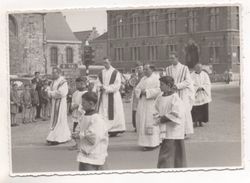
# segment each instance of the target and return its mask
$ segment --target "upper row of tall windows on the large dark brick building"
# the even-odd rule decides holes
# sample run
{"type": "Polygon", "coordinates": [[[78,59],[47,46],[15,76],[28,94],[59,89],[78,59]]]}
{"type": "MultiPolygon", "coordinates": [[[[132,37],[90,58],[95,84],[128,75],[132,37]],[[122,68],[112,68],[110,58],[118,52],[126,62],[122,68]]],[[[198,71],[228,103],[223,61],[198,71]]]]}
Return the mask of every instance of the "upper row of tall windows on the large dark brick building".
{"type": "MultiPolygon", "coordinates": [[[[210,8],[210,14],[209,14],[209,29],[211,31],[219,30],[219,24],[220,24],[220,8],[210,8]]],[[[236,13],[236,25],[239,29],[239,12],[237,8],[236,13]]],[[[197,22],[198,22],[198,15],[197,10],[190,10],[187,11],[187,17],[185,17],[186,21],[186,32],[188,33],[194,33],[197,32],[197,22]]],[[[131,20],[128,21],[124,19],[122,16],[117,16],[115,19],[115,22],[113,22],[111,25],[109,25],[111,28],[113,27],[113,30],[115,31],[115,37],[116,38],[122,38],[124,37],[125,27],[130,27],[130,35],[132,37],[138,37],[140,36],[140,25],[146,24],[147,26],[147,32],[149,36],[155,36],[157,35],[157,27],[158,24],[165,24],[165,33],[167,35],[173,35],[176,34],[176,23],[180,20],[180,18],[176,17],[176,13],[169,12],[167,14],[161,15],[161,14],[150,14],[146,18],[142,19],[141,16],[138,14],[132,15],[131,20]],[[160,16],[164,16],[165,18],[159,19],[160,16]]]]}

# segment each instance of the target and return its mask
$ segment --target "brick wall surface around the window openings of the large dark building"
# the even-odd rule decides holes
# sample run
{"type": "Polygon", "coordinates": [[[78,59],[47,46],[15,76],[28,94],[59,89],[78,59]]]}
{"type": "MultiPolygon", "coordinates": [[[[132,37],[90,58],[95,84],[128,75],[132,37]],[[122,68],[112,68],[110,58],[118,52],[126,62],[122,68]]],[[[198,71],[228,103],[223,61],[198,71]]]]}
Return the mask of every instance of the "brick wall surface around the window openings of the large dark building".
{"type": "Polygon", "coordinates": [[[157,67],[165,67],[168,62],[170,45],[175,45],[180,61],[187,64],[187,47],[195,45],[198,50],[199,61],[203,64],[212,64],[216,72],[222,73],[234,64],[239,63],[239,27],[237,7],[211,8],[177,8],[153,10],[114,10],[108,11],[108,56],[118,68],[130,70],[135,65],[131,58],[131,48],[139,47],[139,60],[152,63],[157,67]],[[216,10],[217,9],[217,10],[216,10]],[[195,14],[195,31],[188,27],[189,12],[195,14]],[[210,28],[211,12],[216,14],[216,29],[210,28]],[[175,13],[175,33],[168,32],[166,16],[175,13]],[[133,15],[139,16],[139,35],[131,33],[133,15]],[[156,15],[156,34],[149,33],[149,15],[156,15]],[[121,21],[123,36],[117,37],[117,20],[121,21]],[[149,59],[148,46],[157,47],[157,58],[149,59]],[[123,59],[117,60],[116,48],[124,50],[123,59]],[[216,53],[216,58],[213,52],[216,53]]]}

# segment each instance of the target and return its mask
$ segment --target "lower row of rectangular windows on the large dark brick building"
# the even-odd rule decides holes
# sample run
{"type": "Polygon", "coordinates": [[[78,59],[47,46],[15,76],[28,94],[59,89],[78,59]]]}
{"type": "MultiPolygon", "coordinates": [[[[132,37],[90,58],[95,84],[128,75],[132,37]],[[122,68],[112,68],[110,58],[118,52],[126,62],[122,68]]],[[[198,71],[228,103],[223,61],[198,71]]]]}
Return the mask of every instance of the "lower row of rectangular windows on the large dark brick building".
{"type": "MultiPolygon", "coordinates": [[[[129,55],[130,58],[129,60],[131,61],[137,61],[141,60],[141,48],[142,47],[131,47],[129,48],[129,55]]],[[[124,61],[124,48],[115,48],[115,55],[114,59],[116,61],[124,61]]],[[[164,57],[165,59],[169,58],[169,54],[171,52],[176,52],[177,51],[177,45],[167,45],[165,47],[165,53],[164,57]]],[[[210,62],[218,62],[220,58],[220,53],[221,53],[221,47],[215,46],[215,47],[209,47],[209,59],[210,62]]],[[[237,48],[237,57],[239,60],[239,47],[237,48]]],[[[151,61],[156,61],[159,60],[159,46],[146,46],[146,54],[147,54],[147,59],[146,60],[151,60],[151,61]]]]}

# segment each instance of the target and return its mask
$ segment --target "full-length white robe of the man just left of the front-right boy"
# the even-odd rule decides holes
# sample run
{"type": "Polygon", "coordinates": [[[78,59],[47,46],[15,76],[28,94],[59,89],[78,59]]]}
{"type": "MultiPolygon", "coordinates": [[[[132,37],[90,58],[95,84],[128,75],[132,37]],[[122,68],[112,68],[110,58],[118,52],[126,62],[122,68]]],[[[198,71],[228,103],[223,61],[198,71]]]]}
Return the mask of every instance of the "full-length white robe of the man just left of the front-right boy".
{"type": "Polygon", "coordinates": [[[144,76],[135,88],[135,95],[139,99],[136,112],[136,128],[138,133],[138,145],[142,147],[155,147],[160,143],[160,129],[155,125],[153,114],[155,113],[154,102],[161,93],[159,76],[152,74],[144,76]],[[141,91],[146,91],[146,96],[141,96],[141,91]],[[152,134],[146,132],[152,129],[152,134]]]}

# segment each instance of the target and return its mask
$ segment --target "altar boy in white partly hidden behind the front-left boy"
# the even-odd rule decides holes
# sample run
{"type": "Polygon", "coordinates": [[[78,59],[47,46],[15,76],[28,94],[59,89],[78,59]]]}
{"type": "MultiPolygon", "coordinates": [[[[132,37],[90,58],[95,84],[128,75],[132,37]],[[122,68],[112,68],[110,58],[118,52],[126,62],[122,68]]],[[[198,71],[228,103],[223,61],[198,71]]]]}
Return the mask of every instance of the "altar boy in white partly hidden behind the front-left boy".
{"type": "MultiPolygon", "coordinates": [[[[82,103],[82,95],[87,92],[86,90],[86,79],[85,78],[76,78],[76,91],[72,95],[72,103],[71,103],[71,110],[72,110],[72,121],[73,121],[73,130],[72,134],[76,132],[76,127],[79,123],[79,118],[81,117],[82,113],[79,110],[79,107],[82,103]]],[[[77,141],[76,144],[70,148],[70,150],[77,149],[77,141]]]]}

